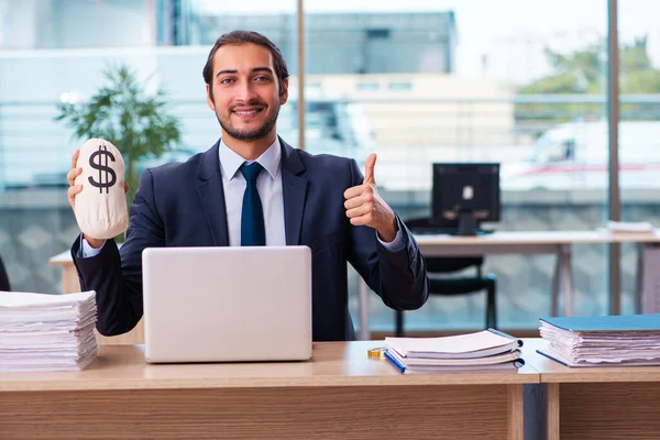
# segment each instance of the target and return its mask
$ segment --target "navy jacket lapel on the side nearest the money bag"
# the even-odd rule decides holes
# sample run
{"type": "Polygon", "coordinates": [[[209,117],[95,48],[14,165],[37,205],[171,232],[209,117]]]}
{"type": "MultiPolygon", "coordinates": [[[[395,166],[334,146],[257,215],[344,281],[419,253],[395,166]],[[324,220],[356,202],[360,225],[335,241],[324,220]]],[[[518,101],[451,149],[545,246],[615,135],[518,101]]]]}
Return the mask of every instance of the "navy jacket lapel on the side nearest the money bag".
{"type": "Polygon", "coordinates": [[[219,146],[220,141],[201,156],[201,163],[197,170],[197,177],[199,178],[197,193],[213,235],[213,244],[228,246],[229,232],[227,229],[224,189],[222,187],[222,175],[220,174],[219,146]]]}

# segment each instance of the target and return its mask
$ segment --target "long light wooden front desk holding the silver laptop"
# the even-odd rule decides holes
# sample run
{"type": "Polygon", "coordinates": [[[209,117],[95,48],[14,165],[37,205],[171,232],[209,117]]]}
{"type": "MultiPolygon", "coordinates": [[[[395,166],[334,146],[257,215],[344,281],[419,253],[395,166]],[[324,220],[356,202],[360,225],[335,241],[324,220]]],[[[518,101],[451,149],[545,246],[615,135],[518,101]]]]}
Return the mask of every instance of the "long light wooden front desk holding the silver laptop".
{"type": "Polygon", "coordinates": [[[100,346],[80,373],[3,373],[0,438],[522,439],[518,372],[402,375],[366,350],[315,343],[299,363],[148,365],[100,346]]]}

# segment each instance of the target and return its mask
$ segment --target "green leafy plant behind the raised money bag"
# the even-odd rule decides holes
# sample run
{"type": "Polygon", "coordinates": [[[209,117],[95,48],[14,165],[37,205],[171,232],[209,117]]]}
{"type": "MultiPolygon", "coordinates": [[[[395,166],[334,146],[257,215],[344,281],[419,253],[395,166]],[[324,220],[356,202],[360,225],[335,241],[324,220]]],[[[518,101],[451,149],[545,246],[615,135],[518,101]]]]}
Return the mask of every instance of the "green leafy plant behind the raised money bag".
{"type": "Polygon", "coordinates": [[[127,164],[130,206],[140,183],[138,162],[176,148],[182,136],[180,123],[165,111],[165,91],[158,89],[155,95],[147,95],[145,84],[136,79],[130,67],[109,66],[103,76],[110,82],[108,86],[101,87],[87,102],[59,102],[55,120],[65,121],[77,139],[101,138],[119,148],[127,164]]]}

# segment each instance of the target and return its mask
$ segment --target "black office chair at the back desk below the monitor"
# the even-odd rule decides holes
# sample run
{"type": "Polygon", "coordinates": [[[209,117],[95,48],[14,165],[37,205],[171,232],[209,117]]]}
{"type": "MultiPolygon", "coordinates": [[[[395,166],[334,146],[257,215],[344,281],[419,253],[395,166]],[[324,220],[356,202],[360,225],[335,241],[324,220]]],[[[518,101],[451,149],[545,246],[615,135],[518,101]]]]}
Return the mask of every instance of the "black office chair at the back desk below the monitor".
{"type": "MultiPolygon", "coordinates": [[[[428,218],[410,219],[405,221],[406,226],[415,232],[416,229],[429,230],[432,228],[428,218]]],[[[486,328],[497,328],[497,279],[495,275],[482,275],[483,256],[475,257],[438,257],[425,256],[427,272],[430,280],[430,295],[468,295],[486,290],[486,328]],[[439,274],[449,274],[475,267],[475,276],[461,276],[447,278],[439,274]]],[[[396,336],[404,336],[404,312],[396,311],[396,336]]]]}

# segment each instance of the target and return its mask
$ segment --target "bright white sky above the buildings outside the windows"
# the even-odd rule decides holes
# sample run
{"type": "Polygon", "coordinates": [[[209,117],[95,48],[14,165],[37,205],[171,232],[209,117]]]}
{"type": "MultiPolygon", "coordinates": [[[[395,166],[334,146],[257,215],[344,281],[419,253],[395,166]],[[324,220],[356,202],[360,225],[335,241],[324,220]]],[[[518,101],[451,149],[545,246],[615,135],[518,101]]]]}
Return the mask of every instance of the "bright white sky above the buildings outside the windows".
{"type": "MultiPolygon", "coordinates": [[[[226,2],[196,0],[208,12],[295,12],[296,0],[226,2]]],[[[619,41],[631,42],[647,33],[649,52],[660,66],[660,1],[619,0],[619,41]]],[[[453,10],[459,33],[457,73],[479,75],[482,55],[493,42],[534,34],[549,37],[578,31],[605,36],[607,0],[305,0],[306,12],[413,12],[453,10]]],[[[575,45],[580,44],[580,38],[575,45]]]]}

